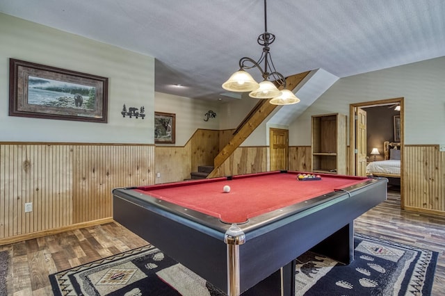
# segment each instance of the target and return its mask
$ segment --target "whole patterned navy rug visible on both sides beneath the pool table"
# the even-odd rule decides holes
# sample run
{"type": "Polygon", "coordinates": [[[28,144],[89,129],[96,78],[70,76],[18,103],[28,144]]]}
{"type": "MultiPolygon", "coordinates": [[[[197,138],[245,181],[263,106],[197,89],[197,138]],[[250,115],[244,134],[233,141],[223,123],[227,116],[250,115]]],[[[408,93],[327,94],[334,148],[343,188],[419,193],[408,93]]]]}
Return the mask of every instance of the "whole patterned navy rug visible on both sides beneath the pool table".
{"type": "MultiPolygon", "coordinates": [[[[430,295],[437,252],[355,234],[355,260],[298,257],[296,295],[430,295]]],[[[153,246],[49,276],[54,295],[223,295],[153,246]]]]}

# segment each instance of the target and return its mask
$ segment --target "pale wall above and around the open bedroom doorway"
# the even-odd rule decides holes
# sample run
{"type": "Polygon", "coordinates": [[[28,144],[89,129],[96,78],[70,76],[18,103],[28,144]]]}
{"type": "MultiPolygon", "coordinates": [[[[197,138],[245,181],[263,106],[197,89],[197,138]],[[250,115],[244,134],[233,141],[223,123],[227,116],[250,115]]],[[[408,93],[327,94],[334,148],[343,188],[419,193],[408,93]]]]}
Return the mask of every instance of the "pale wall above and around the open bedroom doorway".
{"type": "Polygon", "coordinates": [[[349,118],[350,104],[396,97],[405,98],[405,144],[445,144],[442,57],[339,79],[291,124],[289,145],[311,145],[312,115],[343,113],[349,118]]]}

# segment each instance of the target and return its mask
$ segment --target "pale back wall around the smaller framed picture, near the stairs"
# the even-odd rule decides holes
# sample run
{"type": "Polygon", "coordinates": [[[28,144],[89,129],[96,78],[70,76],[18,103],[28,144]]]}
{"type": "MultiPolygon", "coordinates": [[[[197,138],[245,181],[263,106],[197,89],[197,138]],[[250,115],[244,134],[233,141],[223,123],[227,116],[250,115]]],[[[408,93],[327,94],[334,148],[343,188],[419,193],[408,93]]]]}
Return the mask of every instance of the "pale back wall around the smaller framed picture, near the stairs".
{"type": "Polygon", "coordinates": [[[178,97],[162,92],[155,92],[154,110],[176,114],[175,146],[186,145],[197,129],[220,129],[220,119],[223,117],[219,102],[178,97]],[[216,117],[205,122],[204,115],[209,110],[215,112],[216,117]]]}

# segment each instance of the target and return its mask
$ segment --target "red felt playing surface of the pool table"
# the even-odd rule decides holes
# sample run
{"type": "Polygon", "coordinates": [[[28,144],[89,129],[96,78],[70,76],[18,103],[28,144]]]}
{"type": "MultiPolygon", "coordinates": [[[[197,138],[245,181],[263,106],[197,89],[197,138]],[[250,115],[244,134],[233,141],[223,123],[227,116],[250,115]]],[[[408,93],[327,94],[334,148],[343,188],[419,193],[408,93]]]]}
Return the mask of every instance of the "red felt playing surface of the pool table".
{"type": "Polygon", "coordinates": [[[172,204],[243,223],[249,218],[305,202],[366,181],[365,177],[321,174],[321,180],[298,181],[298,172],[266,172],[142,186],[135,190],[172,204]],[[225,185],[230,192],[223,192],[225,185]]]}

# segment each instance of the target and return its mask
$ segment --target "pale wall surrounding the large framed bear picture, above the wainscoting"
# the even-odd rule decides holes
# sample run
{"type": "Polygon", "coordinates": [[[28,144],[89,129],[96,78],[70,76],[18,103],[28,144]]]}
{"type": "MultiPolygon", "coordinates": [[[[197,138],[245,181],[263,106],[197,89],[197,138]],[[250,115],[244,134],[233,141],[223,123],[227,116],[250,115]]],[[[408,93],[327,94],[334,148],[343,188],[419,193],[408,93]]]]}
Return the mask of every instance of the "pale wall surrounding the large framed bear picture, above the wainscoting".
{"type": "Polygon", "coordinates": [[[154,58],[1,13],[0,40],[0,141],[154,142],[154,58]],[[108,123],[8,116],[9,58],[108,77],[108,123]],[[122,117],[123,104],[145,119],[122,117]]]}

